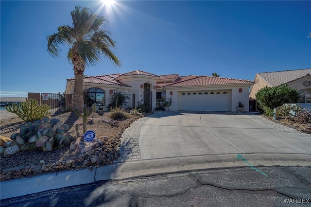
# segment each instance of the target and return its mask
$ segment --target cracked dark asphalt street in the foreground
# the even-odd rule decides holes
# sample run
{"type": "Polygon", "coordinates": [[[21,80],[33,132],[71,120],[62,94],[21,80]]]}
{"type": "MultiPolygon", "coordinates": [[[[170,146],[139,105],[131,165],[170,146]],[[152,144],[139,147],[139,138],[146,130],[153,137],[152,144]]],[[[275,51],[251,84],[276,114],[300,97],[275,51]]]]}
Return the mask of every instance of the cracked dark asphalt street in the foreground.
{"type": "Polygon", "coordinates": [[[1,201],[1,207],[308,207],[310,167],[225,168],[99,181],[1,201]]]}

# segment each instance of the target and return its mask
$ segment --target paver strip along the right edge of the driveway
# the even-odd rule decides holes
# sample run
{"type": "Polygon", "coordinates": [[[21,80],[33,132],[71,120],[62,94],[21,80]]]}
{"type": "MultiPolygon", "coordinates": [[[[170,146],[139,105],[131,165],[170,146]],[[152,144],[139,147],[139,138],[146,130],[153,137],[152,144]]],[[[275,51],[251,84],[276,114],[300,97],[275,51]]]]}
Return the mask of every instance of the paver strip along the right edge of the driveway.
{"type": "Polygon", "coordinates": [[[299,137],[299,138],[304,138],[304,139],[307,139],[307,140],[311,140],[311,134],[303,133],[303,132],[297,131],[295,129],[292,129],[290,127],[283,126],[281,124],[278,124],[278,123],[275,123],[273,121],[267,120],[267,119],[265,119],[265,118],[263,118],[261,116],[249,116],[249,117],[251,119],[255,120],[255,121],[258,121],[259,123],[261,123],[263,125],[269,126],[269,127],[274,128],[276,130],[285,132],[287,134],[290,134],[290,135],[293,135],[293,136],[296,136],[296,137],[299,137]]]}

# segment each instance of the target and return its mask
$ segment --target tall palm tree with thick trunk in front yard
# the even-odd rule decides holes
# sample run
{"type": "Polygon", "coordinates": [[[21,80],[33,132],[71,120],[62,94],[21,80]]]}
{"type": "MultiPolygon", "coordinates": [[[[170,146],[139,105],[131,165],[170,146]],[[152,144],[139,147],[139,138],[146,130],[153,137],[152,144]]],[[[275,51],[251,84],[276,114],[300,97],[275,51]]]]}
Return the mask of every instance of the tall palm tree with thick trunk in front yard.
{"type": "Polygon", "coordinates": [[[111,51],[116,46],[108,31],[102,27],[106,19],[92,13],[88,8],[75,6],[71,12],[72,26],[58,27],[58,32],[49,35],[48,52],[53,57],[59,57],[60,44],[66,43],[71,48],[68,52],[68,61],[74,70],[73,107],[82,111],[83,101],[83,73],[86,66],[94,66],[103,55],[113,64],[121,66],[119,58],[111,51]]]}

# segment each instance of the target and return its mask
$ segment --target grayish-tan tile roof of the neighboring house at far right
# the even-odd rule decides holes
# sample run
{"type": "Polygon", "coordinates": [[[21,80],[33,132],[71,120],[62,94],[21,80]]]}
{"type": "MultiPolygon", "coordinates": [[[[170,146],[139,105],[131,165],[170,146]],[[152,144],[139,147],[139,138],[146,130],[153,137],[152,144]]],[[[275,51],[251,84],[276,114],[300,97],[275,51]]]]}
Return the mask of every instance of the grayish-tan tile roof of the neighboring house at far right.
{"type": "Polygon", "coordinates": [[[294,69],[276,72],[260,72],[257,73],[270,86],[279,86],[281,84],[289,83],[295,79],[311,74],[311,69],[294,69]]]}

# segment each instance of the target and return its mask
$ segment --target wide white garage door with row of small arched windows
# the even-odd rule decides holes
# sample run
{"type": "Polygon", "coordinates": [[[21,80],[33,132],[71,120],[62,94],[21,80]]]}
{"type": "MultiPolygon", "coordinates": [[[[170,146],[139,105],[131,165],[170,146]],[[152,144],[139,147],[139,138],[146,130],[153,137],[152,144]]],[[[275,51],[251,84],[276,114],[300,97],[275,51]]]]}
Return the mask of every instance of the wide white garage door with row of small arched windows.
{"type": "Polygon", "coordinates": [[[228,90],[180,92],[180,110],[229,111],[228,90]]]}

